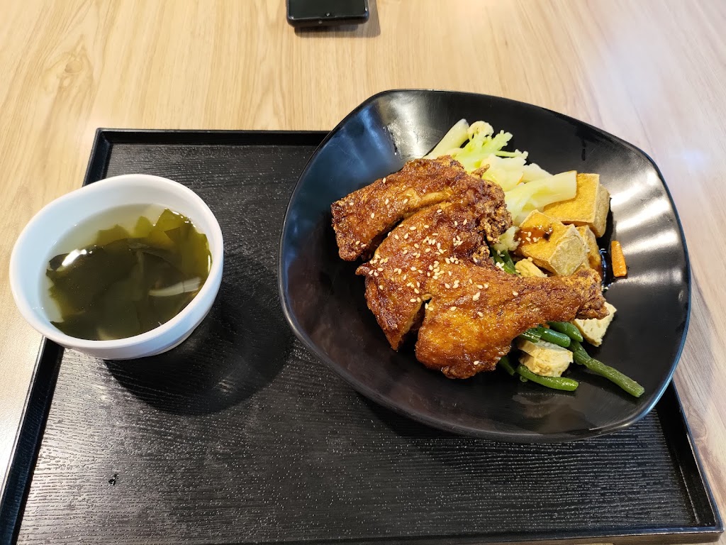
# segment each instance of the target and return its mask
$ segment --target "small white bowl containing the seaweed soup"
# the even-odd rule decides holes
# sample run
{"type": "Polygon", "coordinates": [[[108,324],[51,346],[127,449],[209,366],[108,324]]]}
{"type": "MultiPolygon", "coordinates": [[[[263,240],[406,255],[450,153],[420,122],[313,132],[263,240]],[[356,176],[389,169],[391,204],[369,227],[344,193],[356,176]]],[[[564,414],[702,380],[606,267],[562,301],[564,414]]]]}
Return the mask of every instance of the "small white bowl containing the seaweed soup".
{"type": "Polygon", "coordinates": [[[107,360],[128,360],[166,352],[187,339],[209,312],[219,291],[224,250],[214,214],[184,185],[147,174],[126,174],[99,180],[63,195],[30,219],[10,257],[10,287],[20,313],[44,336],[63,347],[107,360]],[[197,296],[174,318],[144,334],[113,341],[68,336],[50,323],[43,307],[45,271],[58,241],[78,224],[118,206],[159,205],[184,214],[207,235],[212,255],[209,276],[197,296]]]}

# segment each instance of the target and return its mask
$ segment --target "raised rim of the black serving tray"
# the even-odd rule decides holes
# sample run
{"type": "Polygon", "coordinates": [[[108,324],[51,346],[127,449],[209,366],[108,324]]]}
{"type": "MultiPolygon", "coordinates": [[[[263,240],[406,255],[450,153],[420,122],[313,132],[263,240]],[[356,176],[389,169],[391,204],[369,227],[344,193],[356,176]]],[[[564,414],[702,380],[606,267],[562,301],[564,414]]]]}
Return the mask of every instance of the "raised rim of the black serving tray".
{"type": "MultiPolygon", "coordinates": [[[[325,142],[325,131],[264,131],[264,130],[204,130],[204,129],[97,129],[94,142],[91,146],[89,163],[83,176],[83,184],[102,179],[107,169],[113,145],[322,145],[325,142]],[[280,140],[289,140],[280,142],[280,140]]],[[[303,167],[303,169],[306,167],[303,167]]],[[[667,187],[666,187],[667,190],[667,187]]],[[[60,371],[63,349],[49,339],[41,339],[38,347],[36,363],[31,375],[30,385],[25,397],[20,425],[17,427],[11,449],[10,461],[4,468],[4,480],[0,493],[0,542],[12,542],[17,538],[20,524],[23,520],[25,499],[28,496],[30,485],[33,482],[33,470],[36,465],[38,453],[44,437],[46,422],[56,387],[56,379],[60,371]],[[41,382],[40,379],[44,379],[41,382]],[[30,429],[32,428],[32,429],[30,429]],[[28,443],[28,444],[26,444],[28,443]],[[20,490],[10,490],[15,484],[20,490]]],[[[568,536],[550,533],[539,534],[505,534],[502,536],[459,536],[461,543],[508,543],[508,544],[589,544],[593,539],[606,538],[613,544],[639,543],[653,544],[685,544],[702,543],[704,541],[717,541],[723,533],[724,525],[718,506],[715,502],[711,486],[703,468],[701,456],[693,439],[688,419],[683,411],[680,396],[673,381],[666,385],[664,394],[656,403],[656,413],[661,418],[661,411],[671,411],[669,416],[676,416],[669,420],[669,427],[665,425],[664,439],[674,456],[680,472],[680,481],[686,487],[686,496],[690,500],[690,510],[700,515],[698,506],[693,503],[693,494],[686,483],[683,469],[690,465],[695,470],[693,478],[696,485],[705,493],[709,520],[703,525],[677,528],[640,528],[628,532],[597,533],[597,532],[569,532],[568,536]],[[664,402],[661,404],[661,401],[664,402]],[[674,424],[675,422],[675,424],[674,424]],[[666,432],[666,429],[676,427],[666,432]],[[685,456],[685,458],[684,458],[685,456]],[[711,524],[713,522],[713,524],[711,524]],[[481,541],[486,539],[489,541],[481,541]]],[[[703,506],[701,506],[703,509],[703,506]]],[[[421,536],[407,538],[407,543],[440,542],[444,536],[421,536]]],[[[399,538],[368,539],[370,543],[392,543],[399,538]]],[[[346,540],[347,541],[347,540],[346,540]]],[[[346,541],[335,541],[345,543],[346,541]]]]}

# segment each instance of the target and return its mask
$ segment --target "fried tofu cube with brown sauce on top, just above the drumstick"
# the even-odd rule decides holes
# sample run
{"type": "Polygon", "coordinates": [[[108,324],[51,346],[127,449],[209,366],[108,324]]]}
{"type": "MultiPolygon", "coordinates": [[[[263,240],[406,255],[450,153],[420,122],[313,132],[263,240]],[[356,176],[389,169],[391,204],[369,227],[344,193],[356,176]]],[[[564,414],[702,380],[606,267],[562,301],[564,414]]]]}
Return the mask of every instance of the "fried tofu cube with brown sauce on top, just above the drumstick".
{"type": "Polygon", "coordinates": [[[519,231],[518,254],[555,275],[571,275],[587,259],[587,245],[574,225],[534,210],[519,231]]]}

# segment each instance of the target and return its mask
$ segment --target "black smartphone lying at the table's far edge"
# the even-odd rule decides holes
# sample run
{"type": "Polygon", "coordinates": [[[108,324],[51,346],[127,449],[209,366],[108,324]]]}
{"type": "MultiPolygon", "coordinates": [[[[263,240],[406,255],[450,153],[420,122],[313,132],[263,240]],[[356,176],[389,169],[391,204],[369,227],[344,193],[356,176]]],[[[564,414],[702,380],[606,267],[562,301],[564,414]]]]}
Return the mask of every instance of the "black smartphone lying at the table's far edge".
{"type": "Polygon", "coordinates": [[[287,23],[295,27],[359,25],[368,20],[368,0],[287,0],[287,23]]]}

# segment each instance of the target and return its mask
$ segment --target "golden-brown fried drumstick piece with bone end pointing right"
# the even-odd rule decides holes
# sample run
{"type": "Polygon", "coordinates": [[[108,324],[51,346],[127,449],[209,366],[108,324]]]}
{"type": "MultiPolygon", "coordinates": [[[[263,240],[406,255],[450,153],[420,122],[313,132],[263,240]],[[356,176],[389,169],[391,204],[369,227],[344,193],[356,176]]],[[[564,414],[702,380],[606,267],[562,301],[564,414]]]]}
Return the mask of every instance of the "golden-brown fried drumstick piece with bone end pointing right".
{"type": "Polygon", "coordinates": [[[416,358],[452,379],[492,371],[513,339],[529,328],[608,315],[600,277],[592,269],[550,278],[519,278],[489,263],[452,263],[441,270],[427,286],[431,302],[416,358]]]}

